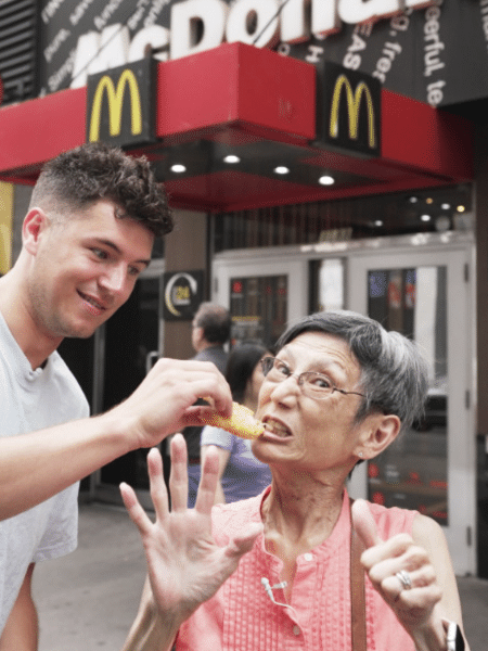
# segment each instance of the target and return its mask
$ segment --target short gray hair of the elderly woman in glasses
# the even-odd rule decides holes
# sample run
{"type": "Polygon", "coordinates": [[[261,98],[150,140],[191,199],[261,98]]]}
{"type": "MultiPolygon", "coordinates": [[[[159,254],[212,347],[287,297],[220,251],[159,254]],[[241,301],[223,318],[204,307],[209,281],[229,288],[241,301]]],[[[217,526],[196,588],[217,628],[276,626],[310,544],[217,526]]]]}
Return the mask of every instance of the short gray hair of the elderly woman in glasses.
{"type": "Polygon", "coordinates": [[[361,368],[365,394],[357,420],[377,409],[395,414],[407,430],[424,413],[428,390],[428,367],[419,347],[399,332],[386,331],[363,315],[334,310],[304,317],[279,339],[281,349],[305,332],[323,332],[346,341],[361,368]]]}

